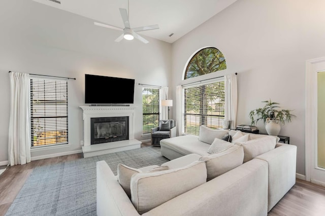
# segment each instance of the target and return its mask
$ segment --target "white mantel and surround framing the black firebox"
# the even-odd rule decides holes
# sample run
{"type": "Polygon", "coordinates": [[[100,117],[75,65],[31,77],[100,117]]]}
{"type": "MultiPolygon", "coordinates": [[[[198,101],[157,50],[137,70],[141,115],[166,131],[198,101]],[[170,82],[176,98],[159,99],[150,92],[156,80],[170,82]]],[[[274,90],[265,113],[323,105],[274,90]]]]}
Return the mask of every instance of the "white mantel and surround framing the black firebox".
{"type": "Polygon", "coordinates": [[[90,146],[90,118],[128,116],[128,139],[134,139],[135,106],[80,106],[83,110],[84,146],[90,146]]]}

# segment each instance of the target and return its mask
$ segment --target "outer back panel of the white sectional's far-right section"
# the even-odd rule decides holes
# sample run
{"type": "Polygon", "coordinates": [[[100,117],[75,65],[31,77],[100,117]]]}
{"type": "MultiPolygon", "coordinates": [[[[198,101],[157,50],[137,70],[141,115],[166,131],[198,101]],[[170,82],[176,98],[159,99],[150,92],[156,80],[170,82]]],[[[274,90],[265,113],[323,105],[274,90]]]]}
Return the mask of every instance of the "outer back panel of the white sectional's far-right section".
{"type": "Polygon", "coordinates": [[[297,146],[288,144],[255,157],[269,164],[268,211],[296,184],[296,157],[297,146]]]}

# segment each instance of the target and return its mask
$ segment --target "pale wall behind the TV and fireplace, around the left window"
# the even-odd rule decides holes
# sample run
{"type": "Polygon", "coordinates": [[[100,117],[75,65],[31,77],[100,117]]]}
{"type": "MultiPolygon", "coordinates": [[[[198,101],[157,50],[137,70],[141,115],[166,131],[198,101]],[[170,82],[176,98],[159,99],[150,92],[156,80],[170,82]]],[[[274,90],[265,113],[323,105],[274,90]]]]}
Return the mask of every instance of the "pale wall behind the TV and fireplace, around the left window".
{"type": "MultiPolygon", "coordinates": [[[[119,17],[118,17],[119,18],[119,17]]],[[[142,137],[142,87],[168,85],[171,45],[148,38],[114,42],[121,32],[93,20],[33,1],[2,0],[0,7],[0,163],[8,160],[10,84],[8,71],[76,77],[69,80],[69,147],[32,152],[40,158],[81,150],[84,74],[136,79],[135,138],[142,137]]],[[[122,88],[122,87],[121,87],[122,88]]],[[[107,93],[114,94],[114,93],[107,93]]]]}

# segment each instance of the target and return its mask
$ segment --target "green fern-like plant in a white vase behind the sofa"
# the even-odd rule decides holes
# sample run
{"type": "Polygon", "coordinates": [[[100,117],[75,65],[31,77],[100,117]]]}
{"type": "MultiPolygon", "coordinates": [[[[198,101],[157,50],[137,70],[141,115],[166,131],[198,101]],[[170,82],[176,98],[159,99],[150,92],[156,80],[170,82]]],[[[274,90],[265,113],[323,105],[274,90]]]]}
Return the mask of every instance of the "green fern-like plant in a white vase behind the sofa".
{"type": "Polygon", "coordinates": [[[251,124],[254,125],[258,120],[262,120],[264,124],[266,124],[265,129],[268,135],[278,136],[281,130],[281,125],[284,125],[284,122],[291,122],[291,117],[295,116],[290,112],[293,110],[282,109],[278,110],[278,104],[276,102],[272,102],[271,99],[269,101],[262,101],[266,103],[263,108],[257,108],[251,110],[249,112],[249,118],[251,120],[251,124]],[[255,119],[254,117],[257,116],[255,119]]]}

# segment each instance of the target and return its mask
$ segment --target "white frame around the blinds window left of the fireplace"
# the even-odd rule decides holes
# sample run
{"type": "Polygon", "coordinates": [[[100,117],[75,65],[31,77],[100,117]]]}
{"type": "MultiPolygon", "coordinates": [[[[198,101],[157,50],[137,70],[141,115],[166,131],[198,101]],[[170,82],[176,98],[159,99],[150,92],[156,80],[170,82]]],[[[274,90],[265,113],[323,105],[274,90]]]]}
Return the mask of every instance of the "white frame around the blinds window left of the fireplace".
{"type": "MultiPolygon", "coordinates": [[[[30,75],[29,78],[29,84],[30,84],[30,92],[29,92],[29,122],[30,122],[30,150],[31,151],[38,151],[38,150],[42,150],[44,148],[59,148],[59,147],[68,147],[70,146],[69,144],[69,82],[68,82],[68,78],[59,78],[59,77],[51,77],[51,76],[40,76],[40,75],[30,75]],[[66,82],[66,85],[64,89],[66,89],[66,103],[64,104],[64,106],[66,106],[66,116],[64,116],[64,118],[66,118],[66,120],[64,122],[66,122],[63,126],[64,129],[66,129],[66,142],[63,143],[53,143],[53,144],[45,144],[45,145],[36,145],[36,146],[32,146],[32,136],[34,135],[34,132],[32,132],[32,80],[48,80],[48,81],[63,81],[66,82]]],[[[58,94],[58,93],[57,93],[58,94]]],[[[55,100],[53,100],[55,101],[55,100]]],[[[56,100],[58,101],[58,100],[56,100]]],[[[57,110],[57,109],[56,109],[57,110]]],[[[57,115],[58,116],[58,115],[57,115]]],[[[36,118],[36,117],[35,117],[36,118]]],[[[52,118],[56,118],[56,117],[52,117],[52,118]]],[[[54,136],[55,139],[57,139],[59,136],[54,136]]]]}

